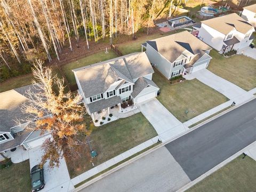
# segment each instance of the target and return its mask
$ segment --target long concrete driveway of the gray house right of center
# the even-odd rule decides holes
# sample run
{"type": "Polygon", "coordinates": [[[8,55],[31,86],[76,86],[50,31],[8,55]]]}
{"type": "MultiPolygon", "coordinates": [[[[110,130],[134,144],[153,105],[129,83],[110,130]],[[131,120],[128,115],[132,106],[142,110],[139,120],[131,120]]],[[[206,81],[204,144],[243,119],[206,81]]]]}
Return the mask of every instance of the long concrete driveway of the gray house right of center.
{"type": "Polygon", "coordinates": [[[252,94],[246,92],[241,87],[223,79],[207,69],[202,69],[191,74],[202,83],[212,87],[214,90],[225,95],[228,99],[234,100],[237,104],[252,98],[252,94]]]}

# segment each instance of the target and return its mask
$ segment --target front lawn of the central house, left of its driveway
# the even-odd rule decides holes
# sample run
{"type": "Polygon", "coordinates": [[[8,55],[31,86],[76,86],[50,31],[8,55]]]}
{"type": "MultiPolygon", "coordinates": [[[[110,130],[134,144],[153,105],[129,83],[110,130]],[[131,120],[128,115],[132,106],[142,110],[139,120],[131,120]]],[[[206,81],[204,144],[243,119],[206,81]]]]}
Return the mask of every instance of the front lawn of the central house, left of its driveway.
{"type": "MultiPolygon", "coordinates": [[[[91,118],[87,118],[87,124],[90,120],[91,118]]],[[[92,159],[89,156],[88,147],[81,146],[79,150],[81,156],[66,158],[71,178],[92,169],[92,163],[97,166],[157,136],[154,127],[141,113],[99,127],[90,123],[90,129],[92,130],[91,145],[93,150],[97,151],[98,156],[92,159]]],[[[86,142],[84,137],[81,140],[86,142]]]]}

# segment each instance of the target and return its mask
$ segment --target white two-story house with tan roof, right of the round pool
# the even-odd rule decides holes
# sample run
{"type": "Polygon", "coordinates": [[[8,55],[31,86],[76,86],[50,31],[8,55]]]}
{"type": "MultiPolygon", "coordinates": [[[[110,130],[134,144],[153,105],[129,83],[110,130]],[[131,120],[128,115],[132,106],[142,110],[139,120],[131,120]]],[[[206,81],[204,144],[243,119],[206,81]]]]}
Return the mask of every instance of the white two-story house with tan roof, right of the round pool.
{"type": "Polygon", "coordinates": [[[198,30],[199,39],[222,53],[249,46],[254,31],[253,26],[236,13],[201,21],[194,29],[198,30]]]}

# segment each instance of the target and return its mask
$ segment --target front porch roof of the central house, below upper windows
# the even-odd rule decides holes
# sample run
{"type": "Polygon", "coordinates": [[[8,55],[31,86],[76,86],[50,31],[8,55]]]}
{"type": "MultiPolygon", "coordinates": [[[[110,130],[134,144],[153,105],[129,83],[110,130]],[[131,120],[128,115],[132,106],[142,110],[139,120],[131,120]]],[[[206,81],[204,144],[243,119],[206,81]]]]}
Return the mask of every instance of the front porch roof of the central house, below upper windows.
{"type": "Polygon", "coordinates": [[[106,109],[108,107],[112,107],[117,105],[118,103],[121,103],[122,99],[119,96],[114,96],[108,99],[101,99],[99,101],[94,101],[89,104],[87,104],[87,107],[89,108],[90,113],[97,112],[102,109],[106,109]]]}

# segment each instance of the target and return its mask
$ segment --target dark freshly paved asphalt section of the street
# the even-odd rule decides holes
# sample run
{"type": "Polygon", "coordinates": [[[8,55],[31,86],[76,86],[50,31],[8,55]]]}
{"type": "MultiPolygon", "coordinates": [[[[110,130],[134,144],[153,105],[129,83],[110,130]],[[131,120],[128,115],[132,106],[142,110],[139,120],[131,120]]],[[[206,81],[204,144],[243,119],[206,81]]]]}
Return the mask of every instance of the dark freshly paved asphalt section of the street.
{"type": "Polygon", "coordinates": [[[194,180],[255,140],[256,99],[165,147],[190,180],[194,180]]]}

